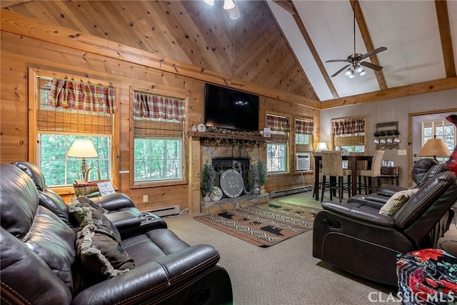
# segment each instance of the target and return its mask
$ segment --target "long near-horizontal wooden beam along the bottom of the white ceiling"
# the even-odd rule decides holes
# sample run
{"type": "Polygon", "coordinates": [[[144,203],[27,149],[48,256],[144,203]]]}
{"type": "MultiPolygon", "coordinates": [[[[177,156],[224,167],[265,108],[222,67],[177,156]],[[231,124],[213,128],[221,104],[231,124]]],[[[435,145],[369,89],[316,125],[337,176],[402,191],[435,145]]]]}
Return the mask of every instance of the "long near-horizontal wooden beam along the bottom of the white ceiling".
{"type": "Polygon", "coordinates": [[[397,99],[403,96],[411,96],[416,94],[425,94],[434,91],[456,89],[457,76],[447,79],[437,79],[435,81],[426,81],[419,84],[402,86],[381,91],[369,92],[366,94],[358,94],[354,96],[346,96],[341,99],[333,99],[331,101],[323,101],[321,109],[330,109],[340,106],[350,106],[355,104],[368,103],[371,101],[382,101],[384,99],[397,99]]]}

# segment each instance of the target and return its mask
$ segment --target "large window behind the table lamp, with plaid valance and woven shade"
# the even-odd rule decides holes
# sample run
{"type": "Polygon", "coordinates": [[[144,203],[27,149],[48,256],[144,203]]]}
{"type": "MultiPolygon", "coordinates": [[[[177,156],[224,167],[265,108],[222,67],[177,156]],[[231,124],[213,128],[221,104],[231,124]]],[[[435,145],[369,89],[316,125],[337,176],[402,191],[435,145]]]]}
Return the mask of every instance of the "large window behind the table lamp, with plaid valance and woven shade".
{"type": "MultiPolygon", "coordinates": [[[[99,169],[101,179],[111,179],[111,139],[116,106],[112,86],[33,74],[36,80],[36,164],[48,186],[69,186],[81,173],[81,158],[66,156],[76,139],[91,139],[98,157],[86,159],[88,168],[99,169]]],[[[93,81],[99,83],[99,81],[93,81]]],[[[98,180],[89,171],[89,181],[98,180]]]]}

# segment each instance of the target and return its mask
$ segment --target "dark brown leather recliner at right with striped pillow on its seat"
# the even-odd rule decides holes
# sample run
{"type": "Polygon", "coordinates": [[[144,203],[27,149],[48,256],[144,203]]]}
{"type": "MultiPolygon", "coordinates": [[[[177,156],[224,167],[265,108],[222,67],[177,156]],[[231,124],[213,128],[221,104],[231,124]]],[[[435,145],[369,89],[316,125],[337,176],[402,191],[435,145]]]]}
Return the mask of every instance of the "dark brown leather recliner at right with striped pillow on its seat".
{"type": "Polygon", "coordinates": [[[456,175],[433,176],[393,216],[358,202],[324,201],[313,226],[313,256],[383,284],[397,284],[396,255],[436,247],[457,200],[456,175]]]}

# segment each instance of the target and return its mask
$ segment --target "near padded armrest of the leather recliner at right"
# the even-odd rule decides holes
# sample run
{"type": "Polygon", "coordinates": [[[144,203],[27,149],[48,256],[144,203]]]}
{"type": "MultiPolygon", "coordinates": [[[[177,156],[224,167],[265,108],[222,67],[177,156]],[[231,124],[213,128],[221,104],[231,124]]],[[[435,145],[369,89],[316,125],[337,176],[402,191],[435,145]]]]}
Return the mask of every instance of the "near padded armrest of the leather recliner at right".
{"type": "Polygon", "coordinates": [[[353,219],[366,221],[371,224],[377,224],[381,226],[395,226],[393,217],[379,214],[379,210],[372,208],[371,206],[364,206],[356,202],[347,204],[340,204],[339,202],[323,201],[322,207],[328,211],[334,211],[339,214],[349,216],[353,219]]]}

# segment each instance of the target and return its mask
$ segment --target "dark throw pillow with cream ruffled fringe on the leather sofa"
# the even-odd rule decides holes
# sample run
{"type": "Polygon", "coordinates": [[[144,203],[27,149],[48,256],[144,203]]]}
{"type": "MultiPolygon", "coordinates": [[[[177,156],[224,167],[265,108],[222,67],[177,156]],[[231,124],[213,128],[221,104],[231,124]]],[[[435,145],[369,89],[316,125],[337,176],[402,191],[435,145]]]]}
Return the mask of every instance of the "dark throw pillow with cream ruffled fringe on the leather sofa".
{"type": "Polygon", "coordinates": [[[76,249],[83,266],[97,276],[117,276],[135,267],[134,259],[121,245],[116,226],[89,204],[71,204],[70,213],[80,220],[76,249]]]}

